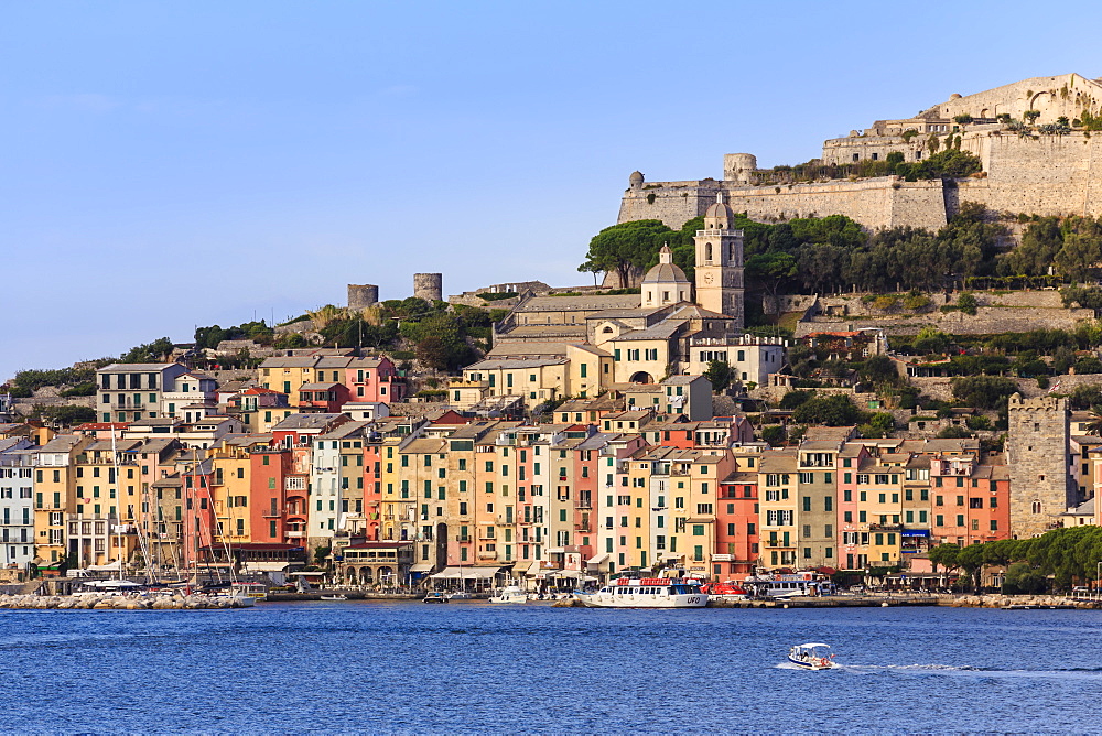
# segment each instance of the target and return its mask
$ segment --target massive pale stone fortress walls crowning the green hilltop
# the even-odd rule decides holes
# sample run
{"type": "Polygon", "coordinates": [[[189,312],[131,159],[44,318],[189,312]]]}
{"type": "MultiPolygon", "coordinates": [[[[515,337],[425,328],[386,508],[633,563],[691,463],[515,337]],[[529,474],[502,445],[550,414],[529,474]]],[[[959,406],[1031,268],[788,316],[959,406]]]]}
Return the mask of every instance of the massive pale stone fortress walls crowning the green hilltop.
{"type": "MultiPolygon", "coordinates": [[[[932,141],[943,148],[960,137],[960,148],[980,156],[983,172],[943,184],[940,180],[905,182],[897,176],[836,178],[802,184],[761,184],[766,172],[746,153],[724,158],[723,180],[645,183],[631,175],[617,221],[660,219],[680,228],[704,214],[719,192],[735,212],[750,219],[845,215],[869,229],[910,225],[938,229],[963,202],[976,202],[1002,213],[1029,215],[1102,215],[1102,132],[1066,134],[1008,130],[996,115],[1020,118],[1038,112],[1038,125],[1056,122],[1076,110],[1095,110],[1102,84],[1079,75],[1035,77],[968,97],[954,95],[916,118],[877,120],[872,128],[823,143],[822,163],[883,161],[899,152],[907,162],[921,161],[932,141]],[[958,115],[973,123],[959,125],[958,115]],[[906,137],[904,133],[915,131],[906,137]]],[[[1100,110],[1102,113],[1102,110],[1100,110]]]]}

